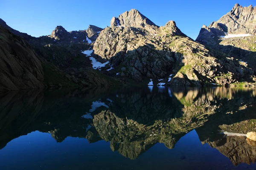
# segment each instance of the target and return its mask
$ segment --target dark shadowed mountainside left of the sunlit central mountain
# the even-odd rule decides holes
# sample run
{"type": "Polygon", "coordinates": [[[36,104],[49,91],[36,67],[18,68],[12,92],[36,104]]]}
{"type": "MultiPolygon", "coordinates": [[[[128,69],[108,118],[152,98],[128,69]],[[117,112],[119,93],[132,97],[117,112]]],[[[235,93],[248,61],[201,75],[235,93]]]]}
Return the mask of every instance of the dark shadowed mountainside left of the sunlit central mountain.
{"type": "MultiPolygon", "coordinates": [[[[36,71],[42,72],[40,81],[42,85],[39,87],[67,87],[67,86],[88,86],[88,85],[117,85],[118,82],[114,81],[111,77],[108,77],[99,71],[92,68],[91,60],[86,57],[81,51],[88,50],[93,46],[93,40],[96,40],[102,28],[96,26],[89,26],[87,30],[84,31],[66,31],[64,27],[57,26],[55,30],[52,31],[51,35],[32,37],[25,33],[20,33],[19,31],[9,27],[6,22],[0,20],[1,31],[6,34],[14,34],[15,37],[19,37],[19,40],[29,46],[29,50],[33,50],[36,59],[40,64],[41,68],[33,67],[36,71]],[[9,30],[9,31],[7,31],[9,30]]],[[[7,36],[9,40],[13,40],[13,37],[7,36]]],[[[14,40],[15,41],[15,40],[14,40]]],[[[9,43],[1,40],[2,49],[4,54],[12,54],[13,51],[18,50],[16,46],[7,47],[9,43]],[[17,48],[17,49],[15,49],[17,48]]],[[[29,55],[26,50],[17,53],[19,55],[29,55]]],[[[2,57],[2,56],[1,56],[2,57]]],[[[12,55],[7,55],[6,59],[12,60],[12,55]]],[[[5,59],[5,60],[6,60],[5,59]]],[[[14,58],[14,60],[17,60],[14,58]]],[[[26,65],[23,64],[23,60],[16,61],[19,63],[20,68],[25,69],[26,65]]],[[[13,63],[3,62],[3,64],[8,63],[13,69],[17,65],[13,63]]],[[[2,65],[3,65],[2,64],[2,65]]],[[[3,66],[3,69],[8,68],[3,66]]],[[[21,71],[20,72],[23,72],[21,71]]],[[[9,69],[6,70],[6,74],[12,74],[9,69]]],[[[22,77],[24,81],[26,80],[22,77]]],[[[20,77],[13,77],[12,81],[18,80],[20,77]]],[[[37,81],[29,79],[30,82],[27,84],[37,83],[37,81]]],[[[6,82],[7,83],[7,82],[6,82]]],[[[8,87],[8,85],[7,85],[8,87]]],[[[18,90],[24,88],[36,88],[35,85],[26,85],[17,87],[6,88],[6,85],[0,85],[0,90],[18,90]]]]}

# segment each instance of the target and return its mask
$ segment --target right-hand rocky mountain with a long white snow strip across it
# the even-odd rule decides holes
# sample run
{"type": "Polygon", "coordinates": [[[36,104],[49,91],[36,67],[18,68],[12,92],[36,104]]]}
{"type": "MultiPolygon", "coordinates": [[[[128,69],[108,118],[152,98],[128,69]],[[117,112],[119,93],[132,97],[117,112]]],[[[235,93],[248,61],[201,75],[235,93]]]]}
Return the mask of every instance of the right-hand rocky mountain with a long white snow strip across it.
{"type": "Polygon", "coordinates": [[[234,57],[256,69],[256,7],[236,4],[218,21],[204,25],[196,41],[219,56],[234,57]]]}

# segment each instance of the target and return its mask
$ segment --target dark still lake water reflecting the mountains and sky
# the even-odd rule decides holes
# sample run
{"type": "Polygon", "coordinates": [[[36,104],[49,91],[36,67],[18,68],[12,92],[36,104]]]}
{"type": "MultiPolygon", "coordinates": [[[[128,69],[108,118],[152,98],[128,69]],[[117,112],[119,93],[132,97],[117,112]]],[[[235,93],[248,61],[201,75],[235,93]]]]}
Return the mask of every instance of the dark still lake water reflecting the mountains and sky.
{"type": "Polygon", "coordinates": [[[253,88],[0,93],[0,170],[256,169],[253,88]]]}

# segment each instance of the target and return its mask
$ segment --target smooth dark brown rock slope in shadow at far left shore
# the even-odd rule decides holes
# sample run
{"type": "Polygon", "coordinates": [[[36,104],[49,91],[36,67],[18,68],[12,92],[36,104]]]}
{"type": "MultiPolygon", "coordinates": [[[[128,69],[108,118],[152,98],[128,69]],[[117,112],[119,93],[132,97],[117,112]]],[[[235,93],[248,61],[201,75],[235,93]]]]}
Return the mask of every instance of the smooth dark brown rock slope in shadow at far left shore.
{"type": "Polygon", "coordinates": [[[21,37],[0,26],[0,91],[43,88],[38,54],[21,37]]]}

